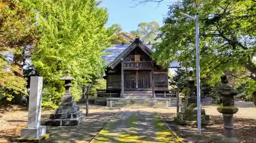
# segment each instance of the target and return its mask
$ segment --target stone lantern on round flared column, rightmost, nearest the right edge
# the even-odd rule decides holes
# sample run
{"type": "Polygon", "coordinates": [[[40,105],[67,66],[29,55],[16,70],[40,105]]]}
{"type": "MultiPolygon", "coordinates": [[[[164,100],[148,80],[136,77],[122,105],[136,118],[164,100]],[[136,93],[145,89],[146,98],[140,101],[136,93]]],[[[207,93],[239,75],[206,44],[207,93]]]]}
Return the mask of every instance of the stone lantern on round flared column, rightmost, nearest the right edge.
{"type": "Polygon", "coordinates": [[[223,115],[224,137],[215,142],[240,143],[240,141],[234,137],[233,126],[233,114],[238,112],[238,108],[234,107],[234,96],[239,92],[228,84],[226,75],[221,76],[221,82],[222,84],[218,87],[217,91],[220,96],[221,106],[218,107],[217,110],[223,115]]]}

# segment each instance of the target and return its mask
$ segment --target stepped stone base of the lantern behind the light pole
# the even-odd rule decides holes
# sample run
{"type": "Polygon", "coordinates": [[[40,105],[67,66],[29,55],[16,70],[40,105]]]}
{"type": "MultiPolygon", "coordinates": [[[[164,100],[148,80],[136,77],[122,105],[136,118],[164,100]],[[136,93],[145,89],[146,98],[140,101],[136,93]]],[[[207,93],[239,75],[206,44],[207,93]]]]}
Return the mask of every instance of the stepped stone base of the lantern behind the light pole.
{"type": "MultiPolygon", "coordinates": [[[[174,118],[174,122],[180,125],[197,125],[197,103],[187,103],[178,113],[178,117],[174,118]]],[[[205,114],[205,109],[201,109],[201,124],[215,124],[210,121],[210,116],[205,114]]]]}

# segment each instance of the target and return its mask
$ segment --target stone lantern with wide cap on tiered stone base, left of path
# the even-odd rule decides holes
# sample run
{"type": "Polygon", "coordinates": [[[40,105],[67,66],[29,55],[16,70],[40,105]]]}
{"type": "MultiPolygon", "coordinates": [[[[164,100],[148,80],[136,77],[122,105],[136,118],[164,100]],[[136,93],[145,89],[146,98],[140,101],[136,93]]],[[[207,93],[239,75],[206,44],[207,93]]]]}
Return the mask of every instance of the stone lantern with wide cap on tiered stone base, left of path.
{"type": "Polygon", "coordinates": [[[74,97],[70,92],[72,87],[71,81],[75,80],[70,75],[60,78],[65,80],[66,93],[61,97],[59,108],[50,115],[50,120],[46,121],[47,126],[75,126],[84,121],[82,111],[79,110],[79,106],[76,105],[74,97]]]}

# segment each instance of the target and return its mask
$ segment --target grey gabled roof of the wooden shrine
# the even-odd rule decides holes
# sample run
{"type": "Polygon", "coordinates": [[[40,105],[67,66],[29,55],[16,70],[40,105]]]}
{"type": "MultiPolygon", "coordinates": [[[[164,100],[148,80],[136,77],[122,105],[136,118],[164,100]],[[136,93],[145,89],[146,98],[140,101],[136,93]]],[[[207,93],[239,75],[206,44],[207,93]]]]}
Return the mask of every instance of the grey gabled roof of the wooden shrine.
{"type": "MultiPolygon", "coordinates": [[[[155,50],[152,48],[152,44],[143,44],[140,40],[139,42],[134,40],[131,44],[113,44],[112,47],[105,49],[103,52],[109,52],[110,54],[105,54],[102,56],[102,60],[105,61],[106,66],[114,68],[121,60],[129,54],[135,47],[140,47],[145,53],[151,55],[155,50]]],[[[172,62],[170,68],[179,67],[178,62],[172,62]]]]}

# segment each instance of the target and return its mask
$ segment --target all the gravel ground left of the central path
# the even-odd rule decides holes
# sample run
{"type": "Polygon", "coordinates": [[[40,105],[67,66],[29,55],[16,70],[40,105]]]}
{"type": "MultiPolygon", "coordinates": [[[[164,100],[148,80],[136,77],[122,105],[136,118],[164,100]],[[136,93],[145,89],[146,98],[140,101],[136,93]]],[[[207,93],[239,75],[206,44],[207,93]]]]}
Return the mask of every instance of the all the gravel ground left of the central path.
{"type": "MultiPolygon", "coordinates": [[[[83,104],[78,105],[80,105],[80,109],[85,113],[85,106],[83,104]]],[[[20,129],[27,126],[28,111],[19,106],[1,109],[3,117],[0,118],[0,142],[2,143],[8,142],[10,138],[20,136],[20,129]]],[[[49,142],[89,142],[112,119],[119,109],[110,109],[104,106],[90,106],[89,116],[79,126],[47,126],[47,133],[51,134],[51,140],[49,142]]],[[[41,120],[49,119],[50,113],[53,113],[53,111],[42,111],[41,120]]]]}

